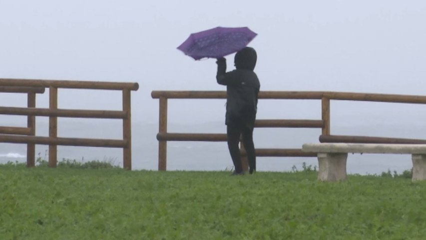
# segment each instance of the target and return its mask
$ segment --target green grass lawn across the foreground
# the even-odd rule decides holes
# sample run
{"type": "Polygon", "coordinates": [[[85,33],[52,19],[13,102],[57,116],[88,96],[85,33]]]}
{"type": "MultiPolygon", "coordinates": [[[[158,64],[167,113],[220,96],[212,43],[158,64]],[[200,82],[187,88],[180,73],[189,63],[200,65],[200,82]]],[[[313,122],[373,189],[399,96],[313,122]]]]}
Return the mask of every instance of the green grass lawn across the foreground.
{"type": "Polygon", "coordinates": [[[426,182],[0,166],[0,239],[426,239],[426,182]]]}

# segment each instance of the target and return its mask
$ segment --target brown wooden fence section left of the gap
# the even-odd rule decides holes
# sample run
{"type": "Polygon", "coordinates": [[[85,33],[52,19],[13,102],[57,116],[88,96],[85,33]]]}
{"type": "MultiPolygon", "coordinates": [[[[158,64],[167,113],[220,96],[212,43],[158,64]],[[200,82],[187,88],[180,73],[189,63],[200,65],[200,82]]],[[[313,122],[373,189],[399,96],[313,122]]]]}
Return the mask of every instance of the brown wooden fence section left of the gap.
{"type": "Polygon", "coordinates": [[[27,166],[35,164],[34,144],[49,145],[48,165],[57,164],[57,145],[123,148],[123,167],[131,169],[131,98],[130,91],[139,88],[136,82],[68,81],[0,78],[0,92],[27,92],[27,107],[0,106],[0,114],[26,115],[28,126],[0,127],[0,142],[26,143],[27,166]],[[49,88],[49,108],[35,107],[35,93],[49,88]],[[59,109],[58,88],[121,90],[122,110],[59,109]],[[33,90],[35,89],[35,90],[33,90]],[[49,136],[35,136],[35,116],[49,117],[49,136]],[[123,120],[123,139],[69,138],[57,136],[57,117],[106,118],[123,120]]]}

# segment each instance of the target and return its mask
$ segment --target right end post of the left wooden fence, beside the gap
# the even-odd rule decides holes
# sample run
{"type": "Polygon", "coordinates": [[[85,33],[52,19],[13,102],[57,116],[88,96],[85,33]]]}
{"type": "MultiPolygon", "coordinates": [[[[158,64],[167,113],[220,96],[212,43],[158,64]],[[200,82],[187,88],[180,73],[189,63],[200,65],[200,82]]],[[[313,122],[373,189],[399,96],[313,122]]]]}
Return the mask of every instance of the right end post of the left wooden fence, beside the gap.
{"type": "Polygon", "coordinates": [[[132,169],[132,128],[131,128],[131,105],[130,89],[123,89],[123,111],[127,112],[123,119],[123,139],[127,141],[126,147],[123,147],[123,167],[127,170],[132,169]]]}

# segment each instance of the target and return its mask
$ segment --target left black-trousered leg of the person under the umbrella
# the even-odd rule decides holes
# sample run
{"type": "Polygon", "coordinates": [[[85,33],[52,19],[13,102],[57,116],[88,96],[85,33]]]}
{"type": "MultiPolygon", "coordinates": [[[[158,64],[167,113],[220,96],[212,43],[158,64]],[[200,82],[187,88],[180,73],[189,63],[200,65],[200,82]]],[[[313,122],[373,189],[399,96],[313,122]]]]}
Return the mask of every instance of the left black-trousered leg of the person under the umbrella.
{"type": "Polygon", "coordinates": [[[226,127],[228,135],[228,149],[231,154],[232,161],[234,162],[235,172],[242,173],[243,166],[241,165],[240,142],[241,131],[237,124],[228,124],[226,127]]]}

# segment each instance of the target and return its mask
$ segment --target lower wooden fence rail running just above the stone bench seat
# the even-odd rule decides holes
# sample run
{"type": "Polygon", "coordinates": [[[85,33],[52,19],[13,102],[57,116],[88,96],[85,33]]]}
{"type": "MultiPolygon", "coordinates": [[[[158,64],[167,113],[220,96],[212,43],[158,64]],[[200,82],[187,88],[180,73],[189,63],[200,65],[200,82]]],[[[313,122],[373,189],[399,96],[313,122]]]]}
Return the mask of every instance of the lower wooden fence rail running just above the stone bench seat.
{"type": "Polygon", "coordinates": [[[426,140],[349,135],[320,135],[320,142],[426,144],[426,140]]]}

